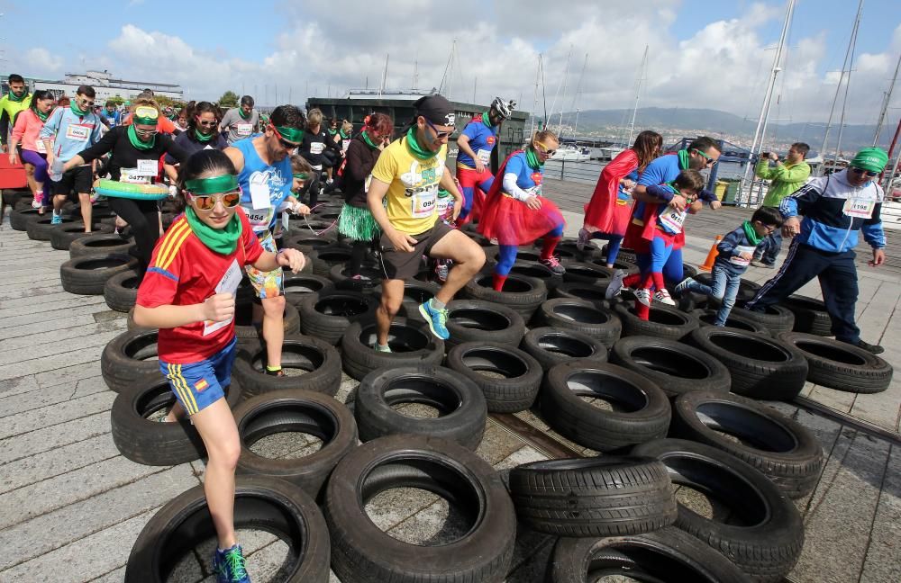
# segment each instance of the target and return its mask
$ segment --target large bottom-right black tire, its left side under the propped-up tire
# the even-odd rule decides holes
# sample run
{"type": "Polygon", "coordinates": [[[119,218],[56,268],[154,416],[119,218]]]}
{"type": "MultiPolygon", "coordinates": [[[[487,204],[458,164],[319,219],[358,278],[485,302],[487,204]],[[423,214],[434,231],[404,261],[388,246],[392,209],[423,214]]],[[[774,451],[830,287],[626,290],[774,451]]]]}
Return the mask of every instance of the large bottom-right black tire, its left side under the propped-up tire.
{"type": "Polygon", "coordinates": [[[678,505],[676,526],[709,544],[762,582],[780,581],[804,546],[804,523],[795,504],[748,463],[710,445],[660,439],[636,445],[633,455],[656,457],[674,484],[708,493],[729,505],[741,523],[724,524],[678,505]]]}

